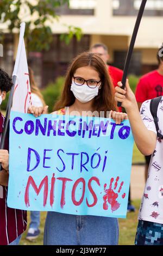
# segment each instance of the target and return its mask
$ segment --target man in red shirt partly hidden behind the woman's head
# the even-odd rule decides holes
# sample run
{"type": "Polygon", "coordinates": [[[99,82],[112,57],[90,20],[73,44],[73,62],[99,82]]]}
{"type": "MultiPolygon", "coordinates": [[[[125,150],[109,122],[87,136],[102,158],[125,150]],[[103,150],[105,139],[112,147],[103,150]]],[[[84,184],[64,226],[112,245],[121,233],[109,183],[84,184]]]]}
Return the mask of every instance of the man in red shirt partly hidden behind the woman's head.
{"type": "MultiPolygon", "coordinates": [[[[98,43],[93,45],[90,48],[90,52],[96,53],[102,58],[102,60],[107,66],[109,75],[112,79],[112,83],[114,84],[114,87],[116,87],[117,83],[119,81],[122,81],[123,71],[121,69],[116,68],[115,66],[108,65],[108,61],[109,61],[108,47],[102,43],[98,43]]],[[[118,109],[119,109],[119,112],[122,112],[122,107],[119,107],[118,109]]],[[[129,190],[127,211],[128,212],[135,211],[134,205],[131,204],[130,190],[129,190]]]]}

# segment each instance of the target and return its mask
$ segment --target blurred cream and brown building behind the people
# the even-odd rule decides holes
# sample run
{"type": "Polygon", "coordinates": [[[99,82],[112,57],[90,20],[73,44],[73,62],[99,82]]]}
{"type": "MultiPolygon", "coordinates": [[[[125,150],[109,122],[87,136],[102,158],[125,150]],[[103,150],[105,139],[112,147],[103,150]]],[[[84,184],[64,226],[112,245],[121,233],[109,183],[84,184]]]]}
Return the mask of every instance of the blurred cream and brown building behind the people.
{"type": "MultiPolygon", "coordinates": [[[[49,23],[54,33],[51,49],[28,54],[37,83],[44,87],[64,75],[72,58],[97,42],[108,46],[110,64],[123,69],[140,4],[141,0],[70,0],[70,8],[67,5],[60,7],[57,10],[60,22],[49,23]],[[70,45],[60,41],[60,34],[66,32],[64,24],[82,28],[82,40],[78,42],[74,38],[70,45]]],[[[156,68],[156,52],[162,43],[162,15],[163,0],[148,0],[131,59],[131,74],[142,75],[156,68]]],[[[4,57],[0,58],[0,65],[9,74],[12,73],[17,42],[17,34],[5,34],[4,57]]]]}

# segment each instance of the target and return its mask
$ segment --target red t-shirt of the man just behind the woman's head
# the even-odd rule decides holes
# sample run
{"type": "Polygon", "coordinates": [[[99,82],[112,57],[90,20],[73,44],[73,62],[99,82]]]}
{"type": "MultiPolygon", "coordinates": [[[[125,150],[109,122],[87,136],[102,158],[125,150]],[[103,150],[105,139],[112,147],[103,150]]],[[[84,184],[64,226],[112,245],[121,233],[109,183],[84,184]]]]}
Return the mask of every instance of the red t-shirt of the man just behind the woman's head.
{"type": "MultiPolygon", "coordinates": [[[[112,78],[114,87],[116,87],[117,83],[122,81],[123,71],[121,69],[115,68],[115,66],[109,66],[108,71],[109,71],[109,75],[112,78]]],[[[119,112],[122,112],[122,107],[119,107],[118,109],[119,109],[119,112]]]]}

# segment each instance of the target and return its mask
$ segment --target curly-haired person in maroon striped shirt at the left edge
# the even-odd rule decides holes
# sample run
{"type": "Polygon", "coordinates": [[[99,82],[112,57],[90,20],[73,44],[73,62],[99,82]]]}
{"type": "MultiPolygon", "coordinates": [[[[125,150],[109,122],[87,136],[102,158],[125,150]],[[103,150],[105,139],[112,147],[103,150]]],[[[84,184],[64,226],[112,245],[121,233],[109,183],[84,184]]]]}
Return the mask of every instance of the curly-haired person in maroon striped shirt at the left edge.
{"type": "MultiPolygon", "coordinates": [[[[0,69],[0,105],[6,93],[11,90],[12,80],[0,69]]],[[[0,139],[2,137],[4,116],[0,112],[0,139]]],[[[7,192],[9,180],[9,138],[5,139],[5,147],[0,150],[0,245],[18,245],[21,234],[27,227],[27,212],[11,209],[7,206],[7,192]]]]}

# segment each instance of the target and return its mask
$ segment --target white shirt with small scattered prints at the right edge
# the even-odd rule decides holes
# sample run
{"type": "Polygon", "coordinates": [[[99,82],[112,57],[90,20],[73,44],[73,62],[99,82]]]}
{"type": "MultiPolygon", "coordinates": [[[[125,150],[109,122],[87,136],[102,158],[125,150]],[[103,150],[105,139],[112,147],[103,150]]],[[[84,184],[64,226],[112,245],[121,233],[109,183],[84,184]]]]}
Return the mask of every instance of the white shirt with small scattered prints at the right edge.
{"type": "MultiPolygon", "coordinates": [[[[140,114],[149,131],[156,133],[156,127],[150,111],[150,102],[143,102],[140,114]]],[[[159,129],[163,134],[163,96],[158,107],[159,129]]],[[[139,220],[163,224],[163,140],[157,138],[156,148],[151,157],[148,179],[139,210],[139,220]]]]}

